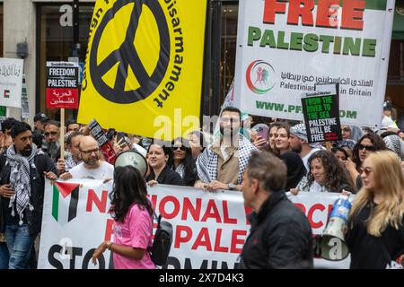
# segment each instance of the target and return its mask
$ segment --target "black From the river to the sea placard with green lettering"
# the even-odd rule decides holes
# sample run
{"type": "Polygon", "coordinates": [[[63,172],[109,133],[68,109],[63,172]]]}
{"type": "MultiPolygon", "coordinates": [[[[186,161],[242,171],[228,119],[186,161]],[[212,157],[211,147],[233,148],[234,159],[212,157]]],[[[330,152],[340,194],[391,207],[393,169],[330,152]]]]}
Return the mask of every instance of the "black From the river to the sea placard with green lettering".
{"type": "Polygon", "coordinates": [[[302,99],[308,142],[338,141],[341,139],[338,84],[316,88],[316,92],[305,93],[302,99]]]}

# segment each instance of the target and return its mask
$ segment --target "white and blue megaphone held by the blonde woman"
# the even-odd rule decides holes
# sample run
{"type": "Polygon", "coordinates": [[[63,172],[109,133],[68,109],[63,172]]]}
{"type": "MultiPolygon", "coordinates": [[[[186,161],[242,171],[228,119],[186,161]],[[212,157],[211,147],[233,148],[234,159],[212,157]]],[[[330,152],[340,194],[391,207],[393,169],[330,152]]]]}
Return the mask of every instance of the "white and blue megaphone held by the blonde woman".
{"type": "Polygon", "coordinates": [[[334,203],[332,212],[329,214],[329,222],[319,241],[320,257],[338,261],[348,256],[349,249],[345,242],[345,234],[347,234],[348,216],[351,207],[352,204],[348,196],[339,196],[334,203]]]}

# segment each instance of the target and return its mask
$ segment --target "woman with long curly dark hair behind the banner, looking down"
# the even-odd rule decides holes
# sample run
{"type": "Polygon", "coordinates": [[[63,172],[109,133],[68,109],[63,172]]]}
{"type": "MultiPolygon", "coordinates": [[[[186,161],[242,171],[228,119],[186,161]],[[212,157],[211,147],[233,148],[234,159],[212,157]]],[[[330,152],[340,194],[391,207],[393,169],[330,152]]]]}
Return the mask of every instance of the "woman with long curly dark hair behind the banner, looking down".
{"type": "Polygon", "coordinates": [[[355,193],[356,189],[342,163],[329,151],[314,152],[309,158],[309,173],[299,185],[291,189],[294,195],[299,191],[355,193]]]}

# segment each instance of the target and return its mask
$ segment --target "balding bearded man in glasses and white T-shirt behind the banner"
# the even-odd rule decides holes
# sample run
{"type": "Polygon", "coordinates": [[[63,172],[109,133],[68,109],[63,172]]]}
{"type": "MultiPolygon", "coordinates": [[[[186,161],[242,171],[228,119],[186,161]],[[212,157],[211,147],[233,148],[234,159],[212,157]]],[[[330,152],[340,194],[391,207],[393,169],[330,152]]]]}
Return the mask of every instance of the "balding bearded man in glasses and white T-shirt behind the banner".
{"type": "Polygon", "coordinates": [[[100,146],[90,135],[83,136],[79,143],[79,151],[82,163],[76,165],[72,170],[60,176],[62,179],[69,178],[91,178],[111,179],[114,174],[114,166],[106,161],[100,160],[100,146]]]}

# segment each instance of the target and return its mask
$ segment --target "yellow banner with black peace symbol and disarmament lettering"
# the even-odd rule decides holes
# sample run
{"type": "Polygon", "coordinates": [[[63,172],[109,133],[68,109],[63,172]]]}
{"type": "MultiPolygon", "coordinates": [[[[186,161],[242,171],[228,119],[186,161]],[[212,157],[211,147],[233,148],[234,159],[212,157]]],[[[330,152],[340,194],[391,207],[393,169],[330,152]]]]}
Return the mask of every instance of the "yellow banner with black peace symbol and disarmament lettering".
{"type": "Polygon", "coordinates": [[[206,0],[97,0],[78,122],[171,140],[199,127],[206,0]]]}

